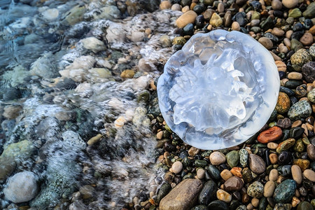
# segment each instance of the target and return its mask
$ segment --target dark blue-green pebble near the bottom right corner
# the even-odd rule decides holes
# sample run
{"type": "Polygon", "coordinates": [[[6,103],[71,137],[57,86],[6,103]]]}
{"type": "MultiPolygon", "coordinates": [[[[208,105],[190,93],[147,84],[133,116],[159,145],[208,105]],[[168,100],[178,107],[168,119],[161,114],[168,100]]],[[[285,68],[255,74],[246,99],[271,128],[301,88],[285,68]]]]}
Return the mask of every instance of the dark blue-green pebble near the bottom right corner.
{"type": "Polygon", "coordinates": [[[290,202],[296,189],[296,183],[292,179],[286,179],[276,186],[274,190],[274,201],[279,203],[290,202]]]}

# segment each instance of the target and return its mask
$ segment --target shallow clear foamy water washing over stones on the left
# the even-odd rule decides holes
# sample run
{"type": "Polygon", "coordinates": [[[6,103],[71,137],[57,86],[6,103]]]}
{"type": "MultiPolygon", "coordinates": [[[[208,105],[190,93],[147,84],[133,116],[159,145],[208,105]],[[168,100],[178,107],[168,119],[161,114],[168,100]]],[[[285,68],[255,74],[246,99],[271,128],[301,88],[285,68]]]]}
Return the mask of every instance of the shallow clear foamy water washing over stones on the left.
{"type": "Polygon", "coordinates": [[[173,53],[160,38],[179,14],[128,2],[0,0],[0,209],[120,209],[158,188],[157,95],[139,95],[173,53]],[[3,191],[20,172],[38,193],[15,204],[3,191]]]}

